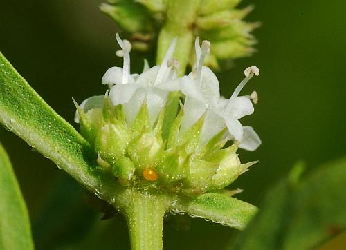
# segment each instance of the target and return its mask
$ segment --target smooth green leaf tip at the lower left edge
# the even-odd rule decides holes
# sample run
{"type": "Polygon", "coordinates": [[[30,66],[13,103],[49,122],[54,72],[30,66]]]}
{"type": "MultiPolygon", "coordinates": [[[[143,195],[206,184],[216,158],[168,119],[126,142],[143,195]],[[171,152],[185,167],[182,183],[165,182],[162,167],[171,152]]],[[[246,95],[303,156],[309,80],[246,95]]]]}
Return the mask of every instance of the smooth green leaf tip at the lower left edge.
{"type": "Polygon", "coordinates": [[[0,144],[0,249],[34,249],[26,204],[0,144]]]}

